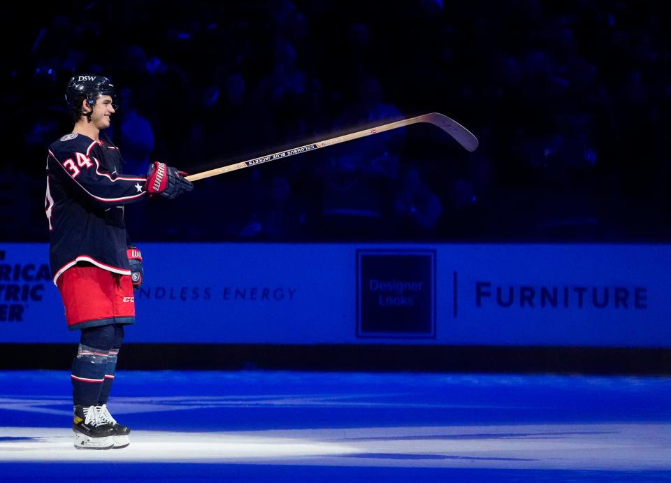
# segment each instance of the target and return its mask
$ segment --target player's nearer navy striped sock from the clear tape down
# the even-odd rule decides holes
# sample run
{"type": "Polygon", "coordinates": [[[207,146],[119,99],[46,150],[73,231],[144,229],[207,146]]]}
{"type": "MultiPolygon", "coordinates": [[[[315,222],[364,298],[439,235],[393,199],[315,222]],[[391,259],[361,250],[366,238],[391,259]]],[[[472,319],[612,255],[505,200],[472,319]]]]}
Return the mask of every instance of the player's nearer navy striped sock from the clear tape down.
{"type": "Polygon", "coordinates": [[[72,401],[75,405],[87,407],[98,404],[108,354],[108,350],[79,345],[77,356],[72,361],[71,375],[72,401]]]}

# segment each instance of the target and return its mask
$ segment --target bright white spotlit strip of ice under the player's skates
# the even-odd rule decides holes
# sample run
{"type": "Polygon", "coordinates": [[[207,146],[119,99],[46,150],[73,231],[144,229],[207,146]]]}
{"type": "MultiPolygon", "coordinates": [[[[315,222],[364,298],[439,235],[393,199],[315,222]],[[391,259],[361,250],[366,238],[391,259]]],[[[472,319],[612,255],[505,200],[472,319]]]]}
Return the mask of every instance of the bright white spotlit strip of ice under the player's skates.
{"type": "Polygon", "coordinates": [[[667,424],[403,426],[207,433],[134,431],[131,446],[107,451],[78,450],[72,442],[71,431],[62,428],[0,428],[0,462],[172,461],[572,470],[671,468],[671,425],[667,424]]]}

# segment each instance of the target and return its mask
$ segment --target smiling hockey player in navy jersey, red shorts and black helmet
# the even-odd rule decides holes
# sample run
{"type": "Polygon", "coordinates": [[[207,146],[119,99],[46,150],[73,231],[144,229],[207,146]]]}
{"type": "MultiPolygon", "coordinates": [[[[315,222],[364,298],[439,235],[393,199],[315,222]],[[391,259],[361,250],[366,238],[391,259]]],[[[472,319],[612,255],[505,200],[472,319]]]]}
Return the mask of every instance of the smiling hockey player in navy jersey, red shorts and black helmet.
{"type": "Polygon", "coordinates": [[[142,255],[129,246],[124,205],[193,189],[182,171],[154,162],[145,175],[122,175],[119,149],[101,138],[117,109],[115,88],[101,75],[75,75],[66,103],[73,131],[50,145],[45,210],[50,264],[68,329],[80,329],[72,363],[75,447],[129,445],[130,430],[107,408],[124,326],[135,322],[133,289],[142,255]]]}

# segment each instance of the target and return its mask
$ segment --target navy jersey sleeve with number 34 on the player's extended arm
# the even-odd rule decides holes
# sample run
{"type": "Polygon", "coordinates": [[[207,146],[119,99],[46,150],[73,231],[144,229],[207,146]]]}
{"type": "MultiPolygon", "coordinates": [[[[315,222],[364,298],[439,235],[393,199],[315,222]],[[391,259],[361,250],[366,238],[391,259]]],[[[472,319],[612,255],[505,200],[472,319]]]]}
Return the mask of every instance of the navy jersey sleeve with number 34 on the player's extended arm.
{"type": "Polygon", "coordinates": [[[106,152],[96,141],[89,144],[71,139],[50,147],[47,168],[96,206],[124,205],[144,199],[147,178],[120,175],[105,157],[106,152]]]}

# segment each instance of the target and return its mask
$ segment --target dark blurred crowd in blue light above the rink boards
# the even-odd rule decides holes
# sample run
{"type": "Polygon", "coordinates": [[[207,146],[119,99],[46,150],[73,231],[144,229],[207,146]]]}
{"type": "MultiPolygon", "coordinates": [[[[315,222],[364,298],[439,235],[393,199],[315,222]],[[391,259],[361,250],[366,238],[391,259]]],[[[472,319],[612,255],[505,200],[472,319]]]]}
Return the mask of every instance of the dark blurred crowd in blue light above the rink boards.
{"type": "Polygon", "coordinates": [[[5,6],[3,240],[46,240],[46,147],[108,75],[125,173],[189,173],[442,112],[127,208],[134,240],[659,241],[671,236],[662,2],[73,1],[5,6]],[[29,19],[29,20],[25,20],[29,19]]]}

